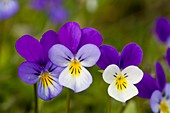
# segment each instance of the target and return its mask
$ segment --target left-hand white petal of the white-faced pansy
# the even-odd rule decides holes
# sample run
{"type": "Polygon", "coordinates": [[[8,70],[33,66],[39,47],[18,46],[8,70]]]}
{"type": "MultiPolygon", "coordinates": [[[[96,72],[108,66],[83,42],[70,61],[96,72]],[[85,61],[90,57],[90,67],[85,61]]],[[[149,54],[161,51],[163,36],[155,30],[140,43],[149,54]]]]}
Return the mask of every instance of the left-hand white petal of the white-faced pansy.
{"type": "Polygon", "coordinates": [[[115,64],[111,64],[104,70],[103,79],[106,83],[111,84],[115,80],[114,75],[116,76],[119,73],[119,67],[115,64]]]}

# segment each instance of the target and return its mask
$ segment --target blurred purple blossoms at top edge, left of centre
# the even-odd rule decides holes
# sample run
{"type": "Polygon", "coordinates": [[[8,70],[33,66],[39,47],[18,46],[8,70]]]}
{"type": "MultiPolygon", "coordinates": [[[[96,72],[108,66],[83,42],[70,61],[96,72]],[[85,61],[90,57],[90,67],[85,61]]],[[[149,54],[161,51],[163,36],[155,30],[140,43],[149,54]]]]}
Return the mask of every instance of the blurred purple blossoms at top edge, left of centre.
{"type": "Polygon", "coordinates": [[[32,0],[31,6],[44,11],[55,24],[63,23],[68,18],[68,11],[63,7],[63,0],[32,0]]]}

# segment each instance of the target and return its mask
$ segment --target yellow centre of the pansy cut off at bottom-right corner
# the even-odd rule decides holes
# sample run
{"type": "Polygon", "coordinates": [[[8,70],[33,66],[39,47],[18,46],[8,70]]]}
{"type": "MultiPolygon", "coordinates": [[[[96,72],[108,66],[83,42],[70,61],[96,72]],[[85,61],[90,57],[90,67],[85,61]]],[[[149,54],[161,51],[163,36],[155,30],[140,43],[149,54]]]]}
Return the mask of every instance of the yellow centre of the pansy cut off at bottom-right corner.
{"type": "Polygon", "coordinates": [[[170,113],[170,109],[168,108],[168,104],[165,99],[163,99],[159,105],[159,109],[161,113],[170,113]]]}

